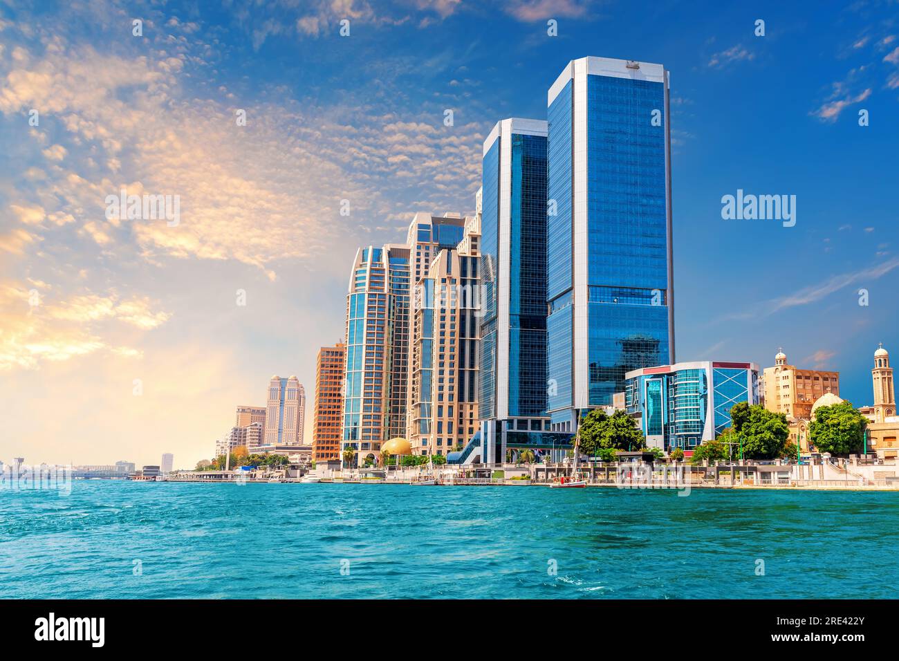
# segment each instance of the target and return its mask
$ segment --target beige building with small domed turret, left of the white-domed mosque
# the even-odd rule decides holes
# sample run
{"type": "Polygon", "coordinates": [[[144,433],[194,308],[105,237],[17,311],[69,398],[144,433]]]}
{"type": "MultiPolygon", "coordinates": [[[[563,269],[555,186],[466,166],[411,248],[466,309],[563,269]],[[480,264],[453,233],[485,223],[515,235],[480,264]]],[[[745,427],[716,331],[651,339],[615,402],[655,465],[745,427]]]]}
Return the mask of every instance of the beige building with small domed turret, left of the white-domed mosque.
{"type": "Polygon", "coordinates": [[[800,370],[787,362],[787,354],[774,356],[774,367],[764,370],[765,408],[787,416],[789,442],[807,452],[808,423],[812,406],[821,397],[831,394],[840,397],[840,372],[800,370]]]}

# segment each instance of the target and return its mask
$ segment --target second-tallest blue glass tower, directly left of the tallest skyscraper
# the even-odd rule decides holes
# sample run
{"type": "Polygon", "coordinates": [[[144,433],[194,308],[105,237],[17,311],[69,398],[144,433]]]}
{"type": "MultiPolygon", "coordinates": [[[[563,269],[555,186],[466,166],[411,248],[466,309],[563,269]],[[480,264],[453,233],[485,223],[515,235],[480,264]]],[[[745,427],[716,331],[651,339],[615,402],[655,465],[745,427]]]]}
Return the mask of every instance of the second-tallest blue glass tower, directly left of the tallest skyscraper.
{"type": "Polygon", "coordinates": [[[498,121],[483,154],[479,415],[541,417],[547,410],[547,122],[498,121]]]}

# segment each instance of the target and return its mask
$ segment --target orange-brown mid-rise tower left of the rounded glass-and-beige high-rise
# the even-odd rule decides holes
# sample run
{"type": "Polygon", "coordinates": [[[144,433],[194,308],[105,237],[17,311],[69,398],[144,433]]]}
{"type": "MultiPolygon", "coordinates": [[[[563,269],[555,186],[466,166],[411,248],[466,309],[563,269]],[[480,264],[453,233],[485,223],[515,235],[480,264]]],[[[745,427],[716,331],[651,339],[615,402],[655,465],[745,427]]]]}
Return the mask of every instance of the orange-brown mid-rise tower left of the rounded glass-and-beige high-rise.
{"type": "Polygon", "coordinates": [[[340,459],[340,416],[343,406],[343,363],[346,344],[323,346],[316,359],[316,416],[312,427],[312,458],[340,459]]]}

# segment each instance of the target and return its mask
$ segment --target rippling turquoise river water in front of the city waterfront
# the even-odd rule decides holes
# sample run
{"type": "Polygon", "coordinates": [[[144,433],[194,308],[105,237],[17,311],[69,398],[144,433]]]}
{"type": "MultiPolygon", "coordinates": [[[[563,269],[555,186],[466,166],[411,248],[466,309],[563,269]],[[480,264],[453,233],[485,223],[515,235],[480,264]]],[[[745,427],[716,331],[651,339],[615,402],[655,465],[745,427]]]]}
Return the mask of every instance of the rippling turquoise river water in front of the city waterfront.
{"type": "Polygon", "coordinates": [[[0,597],[895,598],[897,533],[899,493],[77,481],[0,490],[0,597]]]}

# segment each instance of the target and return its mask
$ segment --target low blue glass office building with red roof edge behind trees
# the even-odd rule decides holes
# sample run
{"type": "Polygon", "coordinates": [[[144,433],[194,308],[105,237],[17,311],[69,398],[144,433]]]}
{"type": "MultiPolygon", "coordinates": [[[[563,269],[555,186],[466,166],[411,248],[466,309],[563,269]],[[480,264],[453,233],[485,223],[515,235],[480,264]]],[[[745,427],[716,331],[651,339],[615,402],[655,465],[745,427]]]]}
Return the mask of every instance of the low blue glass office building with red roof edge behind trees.
{"type": "Polygon", "coordinates": [[[734,404],[759,403],[759,366],[752,362],[679,362],[625,375],[625,410],[646,444],[692,451],[731,426],[734,404]]]}

